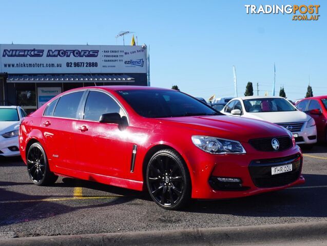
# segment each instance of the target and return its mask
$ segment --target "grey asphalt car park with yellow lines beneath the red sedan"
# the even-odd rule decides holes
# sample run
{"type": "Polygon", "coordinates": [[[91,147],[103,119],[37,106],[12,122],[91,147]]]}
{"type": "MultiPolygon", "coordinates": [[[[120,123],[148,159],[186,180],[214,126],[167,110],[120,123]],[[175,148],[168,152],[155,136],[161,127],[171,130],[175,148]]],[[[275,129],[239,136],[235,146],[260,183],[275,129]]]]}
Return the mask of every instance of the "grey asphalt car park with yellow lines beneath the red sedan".
{"type": "Polygon", "coordinates": [[[304,185],[252,197],[192,201],[166,211],[138,192],[59,178],[30,181],[19,157],[0,159],[0,238],[249,226],[327,220],[327,146],[303,150],[304,185]]]}

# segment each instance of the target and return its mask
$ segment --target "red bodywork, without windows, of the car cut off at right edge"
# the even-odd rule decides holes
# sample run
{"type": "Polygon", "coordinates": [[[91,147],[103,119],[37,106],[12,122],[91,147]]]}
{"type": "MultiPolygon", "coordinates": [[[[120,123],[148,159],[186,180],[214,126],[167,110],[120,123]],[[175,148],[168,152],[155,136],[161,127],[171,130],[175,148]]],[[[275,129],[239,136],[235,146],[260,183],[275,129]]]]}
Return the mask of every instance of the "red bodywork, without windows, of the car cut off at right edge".
{"type": "MultiPolygon", "coordinates": [[[[299,110],[305,112],[306,114],[310,115],[312,118],[314,118],[316,122],[317,127],[317,140],[320,142],[327,141],[327,110],[322,103],[321,99],[327,99],[327,96],[314,96],[314,97],[307,97],[300,101],[298,101],[295,105],[295,107],[298,108],[298,105],[303,101],[308,101],[306,107],[304,109],[298,108],[299,110]],[[319,105],[319,110],[321,111],[321,114],[312,114],[310,112],[309,107],[311,104],[311,101],[315,101],[315,105],[319,105]]],[[[316,108],[316,107],[314,107],[316,108]]]]}

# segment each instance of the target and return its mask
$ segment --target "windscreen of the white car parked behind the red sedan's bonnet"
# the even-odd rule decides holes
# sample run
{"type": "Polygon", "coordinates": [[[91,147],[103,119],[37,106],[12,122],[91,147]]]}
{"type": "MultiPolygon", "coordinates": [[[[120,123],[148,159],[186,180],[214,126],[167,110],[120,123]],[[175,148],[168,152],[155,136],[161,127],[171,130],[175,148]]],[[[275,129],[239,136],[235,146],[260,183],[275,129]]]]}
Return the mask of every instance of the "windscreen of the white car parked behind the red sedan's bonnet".
{"type": "Polygon", "coordinates": [[[246,112],[281,112],[296,111],[296,109],[283,98],[256,98],[243,100],[246,112]]]}

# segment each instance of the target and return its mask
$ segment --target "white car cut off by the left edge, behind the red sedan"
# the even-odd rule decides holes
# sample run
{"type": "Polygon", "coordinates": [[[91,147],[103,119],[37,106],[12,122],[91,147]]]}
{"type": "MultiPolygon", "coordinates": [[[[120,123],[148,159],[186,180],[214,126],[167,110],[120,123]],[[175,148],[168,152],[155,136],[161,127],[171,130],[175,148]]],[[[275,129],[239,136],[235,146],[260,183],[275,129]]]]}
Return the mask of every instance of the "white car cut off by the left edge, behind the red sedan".
{"type": "Polygon", "coordinates": [[[18,106],[0,106],[0,156],[20,155],[18,131],[25,111],[18,106]]]}

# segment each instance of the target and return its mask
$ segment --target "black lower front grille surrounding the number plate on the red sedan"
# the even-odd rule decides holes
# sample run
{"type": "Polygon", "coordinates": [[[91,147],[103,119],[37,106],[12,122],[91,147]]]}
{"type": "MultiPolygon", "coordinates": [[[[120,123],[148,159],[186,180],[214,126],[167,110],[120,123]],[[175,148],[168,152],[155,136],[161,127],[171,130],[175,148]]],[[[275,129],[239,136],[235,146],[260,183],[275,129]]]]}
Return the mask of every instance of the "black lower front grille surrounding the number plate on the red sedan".
{"type": "Polygon", "coordinates": [[[284,158],[254,160],[248,169],[252,181],[256,187],[270,188],[285,186],[297,180],[301,173],[302,158],[300,155],[293,155],[284,158]],[[292,171],[272,175],[272,167],[292,163],[292,171]]]}

